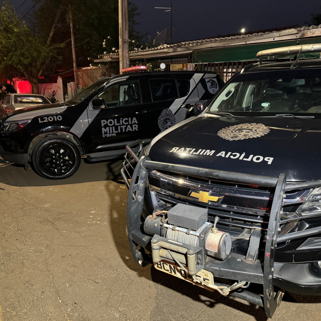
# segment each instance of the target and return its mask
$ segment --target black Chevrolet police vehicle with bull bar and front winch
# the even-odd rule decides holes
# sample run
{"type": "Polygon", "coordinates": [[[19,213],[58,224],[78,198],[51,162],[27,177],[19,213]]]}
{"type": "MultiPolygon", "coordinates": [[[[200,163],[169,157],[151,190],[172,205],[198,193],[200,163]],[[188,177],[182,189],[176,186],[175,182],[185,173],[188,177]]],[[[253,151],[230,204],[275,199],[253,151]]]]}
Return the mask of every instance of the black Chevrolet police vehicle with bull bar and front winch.
{"type": "Polygon", "coordinates": [[[247,65],[200,115],[140,143],[140,158],[127,146],[134,259],[267,317],[285,290],[321,294],[320,140],[321,59],[247,65]]]}

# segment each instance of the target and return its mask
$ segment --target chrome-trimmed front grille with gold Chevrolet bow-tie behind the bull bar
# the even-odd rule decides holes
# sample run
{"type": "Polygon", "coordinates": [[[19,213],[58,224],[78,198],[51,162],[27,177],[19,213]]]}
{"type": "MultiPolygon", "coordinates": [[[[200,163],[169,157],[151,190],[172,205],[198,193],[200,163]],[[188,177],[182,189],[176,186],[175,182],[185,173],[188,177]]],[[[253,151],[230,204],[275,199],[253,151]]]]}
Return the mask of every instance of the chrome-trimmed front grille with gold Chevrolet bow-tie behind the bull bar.
{"type": "MultiPolygon", "coordinates": [[[[171,204],[188,204],[208,210],[208,220],[220,217],[223,230],[267,229],[274,188],[213,180],[180,173],[148,170],[149,189],[152,198],[171,204]],[[218,201],[195,198],[203,191],[206,195],[222,197],[218,201]],[[194,193],[193,193],[194,192],[194,193]],[[206,202],[207,201],[207,202],[206,202]]],[[[288,204],[307,194],[305,190],[287,194],[288,204]]],[[[286,217],[286,213],[284,213],[286,217]]]]}

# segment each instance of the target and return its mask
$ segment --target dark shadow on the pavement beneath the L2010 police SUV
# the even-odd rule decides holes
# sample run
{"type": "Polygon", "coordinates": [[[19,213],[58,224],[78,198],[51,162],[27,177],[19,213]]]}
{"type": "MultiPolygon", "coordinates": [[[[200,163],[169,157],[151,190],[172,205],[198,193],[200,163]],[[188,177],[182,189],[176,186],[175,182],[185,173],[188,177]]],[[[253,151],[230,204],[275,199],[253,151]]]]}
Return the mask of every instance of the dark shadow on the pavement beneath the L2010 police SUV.
{"type": "Polygon", "coordinates": [[[122,158],[98,162],[89,162],[86,159],[82,159],[79,169],[73,176],[58,180],[41,177],[33,169],[32,165],[30,169],[26,170],[24,165],[11,164],[5,167],[0,167],[0,182],[11,186],[27,187],[117,180],[121,179],[119,171],[122,161],[122,158]]]}

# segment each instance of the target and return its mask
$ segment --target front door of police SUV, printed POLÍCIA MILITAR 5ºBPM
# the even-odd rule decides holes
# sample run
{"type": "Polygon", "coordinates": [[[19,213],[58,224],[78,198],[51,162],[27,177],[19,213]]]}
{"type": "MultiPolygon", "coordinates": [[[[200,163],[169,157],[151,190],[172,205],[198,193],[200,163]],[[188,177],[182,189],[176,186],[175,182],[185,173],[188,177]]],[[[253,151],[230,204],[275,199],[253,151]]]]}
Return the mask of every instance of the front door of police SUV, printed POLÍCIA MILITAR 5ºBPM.
{"type": "Polygon", "coordinates": [[[150,141],[148,104],[142,100],[138,77],[107,85],[95,98],[103,98],[106,106],[93,110],[92,101],[89,104],[93,151],[124,149],[137,139],[150,141]]]}

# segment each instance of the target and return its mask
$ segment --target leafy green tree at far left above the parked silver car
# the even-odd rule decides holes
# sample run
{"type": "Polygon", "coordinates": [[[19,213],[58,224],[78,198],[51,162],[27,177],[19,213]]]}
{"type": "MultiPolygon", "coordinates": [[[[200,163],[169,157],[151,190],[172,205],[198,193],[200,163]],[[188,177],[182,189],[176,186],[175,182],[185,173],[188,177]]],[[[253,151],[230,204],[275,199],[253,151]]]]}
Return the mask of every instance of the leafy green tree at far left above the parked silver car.
{"type": "Polygon", "coordinates": [[[64,43],[51,44],[60,12],[50,28],[47,39],[37,35],[16,15],[13,6],[5,1],[0,11],[0,72],[9,66],[21,70],[29,80],[32,93],[39,93],[39,77],[57,48],[64,43]]]}

